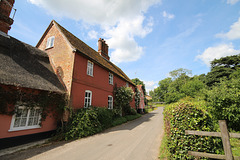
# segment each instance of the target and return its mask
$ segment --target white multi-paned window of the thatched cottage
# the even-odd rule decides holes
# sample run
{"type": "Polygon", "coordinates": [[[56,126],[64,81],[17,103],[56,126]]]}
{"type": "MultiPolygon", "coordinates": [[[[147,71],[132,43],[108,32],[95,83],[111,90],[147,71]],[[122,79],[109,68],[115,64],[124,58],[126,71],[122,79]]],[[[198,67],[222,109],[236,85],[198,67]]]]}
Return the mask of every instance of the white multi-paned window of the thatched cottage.
{"type": "Polygon", "coordinates": [[[10,131],[40,128],[41,112],[39,107],[18,106],[12,117],[10,131]]]}

